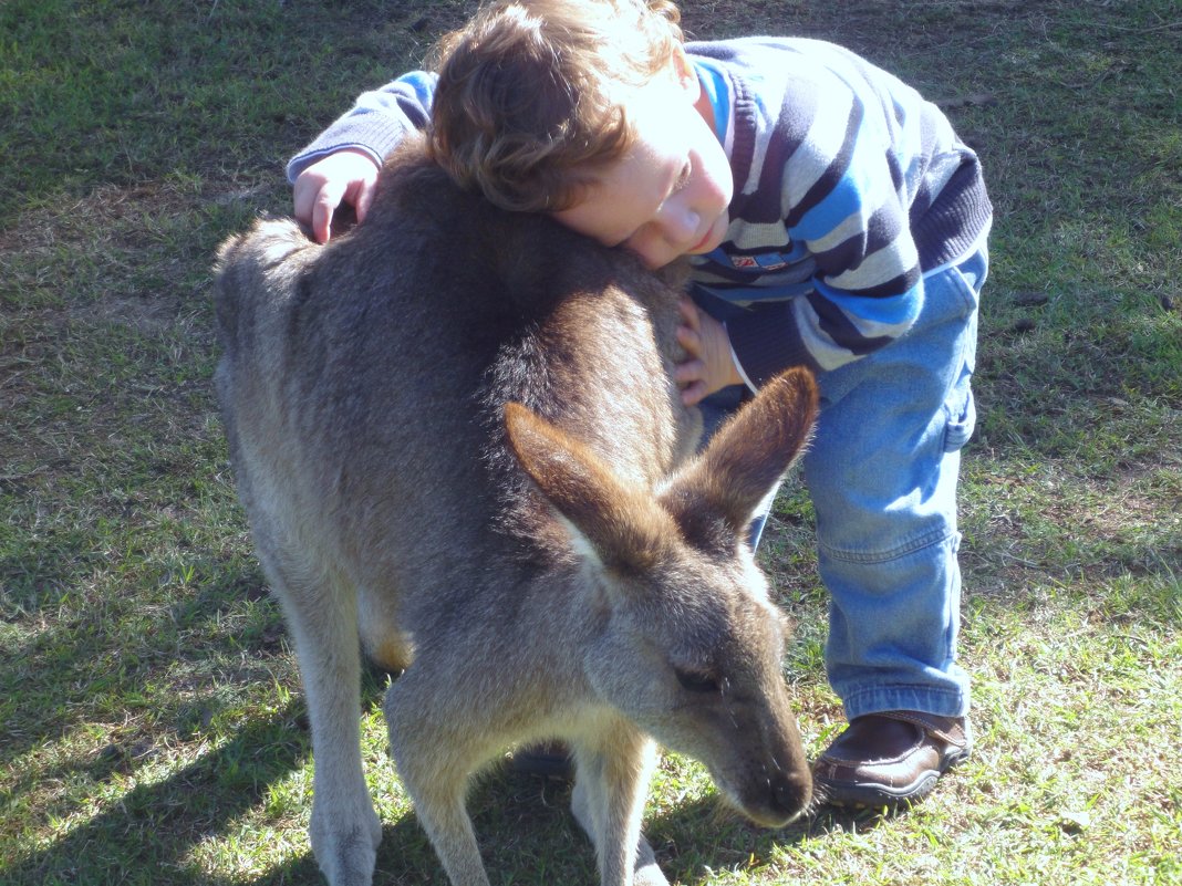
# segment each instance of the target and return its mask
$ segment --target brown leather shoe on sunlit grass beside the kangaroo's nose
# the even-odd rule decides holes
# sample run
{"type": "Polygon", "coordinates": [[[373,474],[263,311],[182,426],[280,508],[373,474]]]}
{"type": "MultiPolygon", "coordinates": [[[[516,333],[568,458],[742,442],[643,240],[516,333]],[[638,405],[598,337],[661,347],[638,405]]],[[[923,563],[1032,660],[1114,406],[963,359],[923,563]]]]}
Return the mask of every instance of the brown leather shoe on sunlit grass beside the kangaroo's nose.
{"type": "Polygon", "coordinates": [[[833,806],[911,802],[966,760],[972,731],[965,717],[886,711],[855,717],[813,766],[819,799],[833,806]]]}

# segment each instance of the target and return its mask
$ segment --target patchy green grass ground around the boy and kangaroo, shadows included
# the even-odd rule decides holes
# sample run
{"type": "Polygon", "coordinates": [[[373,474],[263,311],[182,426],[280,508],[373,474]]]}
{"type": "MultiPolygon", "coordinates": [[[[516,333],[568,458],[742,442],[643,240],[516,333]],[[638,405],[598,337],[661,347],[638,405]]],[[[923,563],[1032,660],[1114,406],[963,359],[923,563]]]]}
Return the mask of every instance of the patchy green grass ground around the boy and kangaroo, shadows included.
{"type": "MultiPolygon", "coordinates": [[[[209,266],[282,161],[459,0],[0,6],[0,882],[313,884],[299,679],[227,473],[209,266]]],[[[1182,882],[1182,17],[1168,0],[686,2],[847,44],[943,104],[996,206],[966,452],[974,756],[922,806],[780,832],[668,757],[682,886],[1182,882]]],[[[764,562],[818,753],[807,496],[764,562]]],[[[443,884],[366,678],[377,882],[443,884]]],[[[592,882],[560,786],[489,775],[493,882],[592,882]]]]}

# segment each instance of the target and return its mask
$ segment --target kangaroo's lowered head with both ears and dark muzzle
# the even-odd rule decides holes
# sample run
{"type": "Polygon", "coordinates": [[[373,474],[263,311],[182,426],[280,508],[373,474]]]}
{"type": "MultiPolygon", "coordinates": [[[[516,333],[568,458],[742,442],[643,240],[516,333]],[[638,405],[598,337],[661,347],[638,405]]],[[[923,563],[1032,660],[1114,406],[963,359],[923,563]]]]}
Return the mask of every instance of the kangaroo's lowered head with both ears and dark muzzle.
{"type": "Polygon", "coordinates": [[[812,781],[781,659],[786,627],[747,527],[807,441],[811,374],[764,386],[661,489],[616,477],[579,441],[509,404],[511,447],[589,576],[584,671],[597,696],[703,762],[761,825],[807,806],[812,781]]]}

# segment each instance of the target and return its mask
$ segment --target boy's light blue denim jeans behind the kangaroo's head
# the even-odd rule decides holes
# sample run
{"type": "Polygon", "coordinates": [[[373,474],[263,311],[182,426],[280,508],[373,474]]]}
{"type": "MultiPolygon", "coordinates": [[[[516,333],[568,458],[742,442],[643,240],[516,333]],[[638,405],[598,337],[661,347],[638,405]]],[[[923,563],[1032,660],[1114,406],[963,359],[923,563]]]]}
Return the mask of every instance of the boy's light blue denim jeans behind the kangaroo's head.
{"type": "MultiPolygon", "coordinates": [[[[825,667],[850,719],[968,711],[969,678],[956,664],[956,481],[975,418],[970,379],[987,271],[982,245],[927,274],[907,335],[817,377],[821,411],[804,478],[830,592],[825,667]]],[[[708,431],[740,395],[727,389],[703,402],[708,431]]]]}

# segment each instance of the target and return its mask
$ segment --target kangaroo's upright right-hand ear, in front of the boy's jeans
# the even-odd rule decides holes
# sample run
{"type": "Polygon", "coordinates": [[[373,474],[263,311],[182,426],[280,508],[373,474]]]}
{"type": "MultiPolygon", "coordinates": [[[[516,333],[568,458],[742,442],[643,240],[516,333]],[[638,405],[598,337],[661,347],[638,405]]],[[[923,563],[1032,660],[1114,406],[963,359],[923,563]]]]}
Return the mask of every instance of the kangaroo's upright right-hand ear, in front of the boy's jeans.
{"type": "Polygon", "coordinates": [[[701,541],[709,522],[720,517],[732,533],[746,530],[760,502],[808,442],[817,399],[812,373],[791,369],[765,384],[715,431],[706,450],[678,471],[661,496],[689,538],[701,541]]]}

